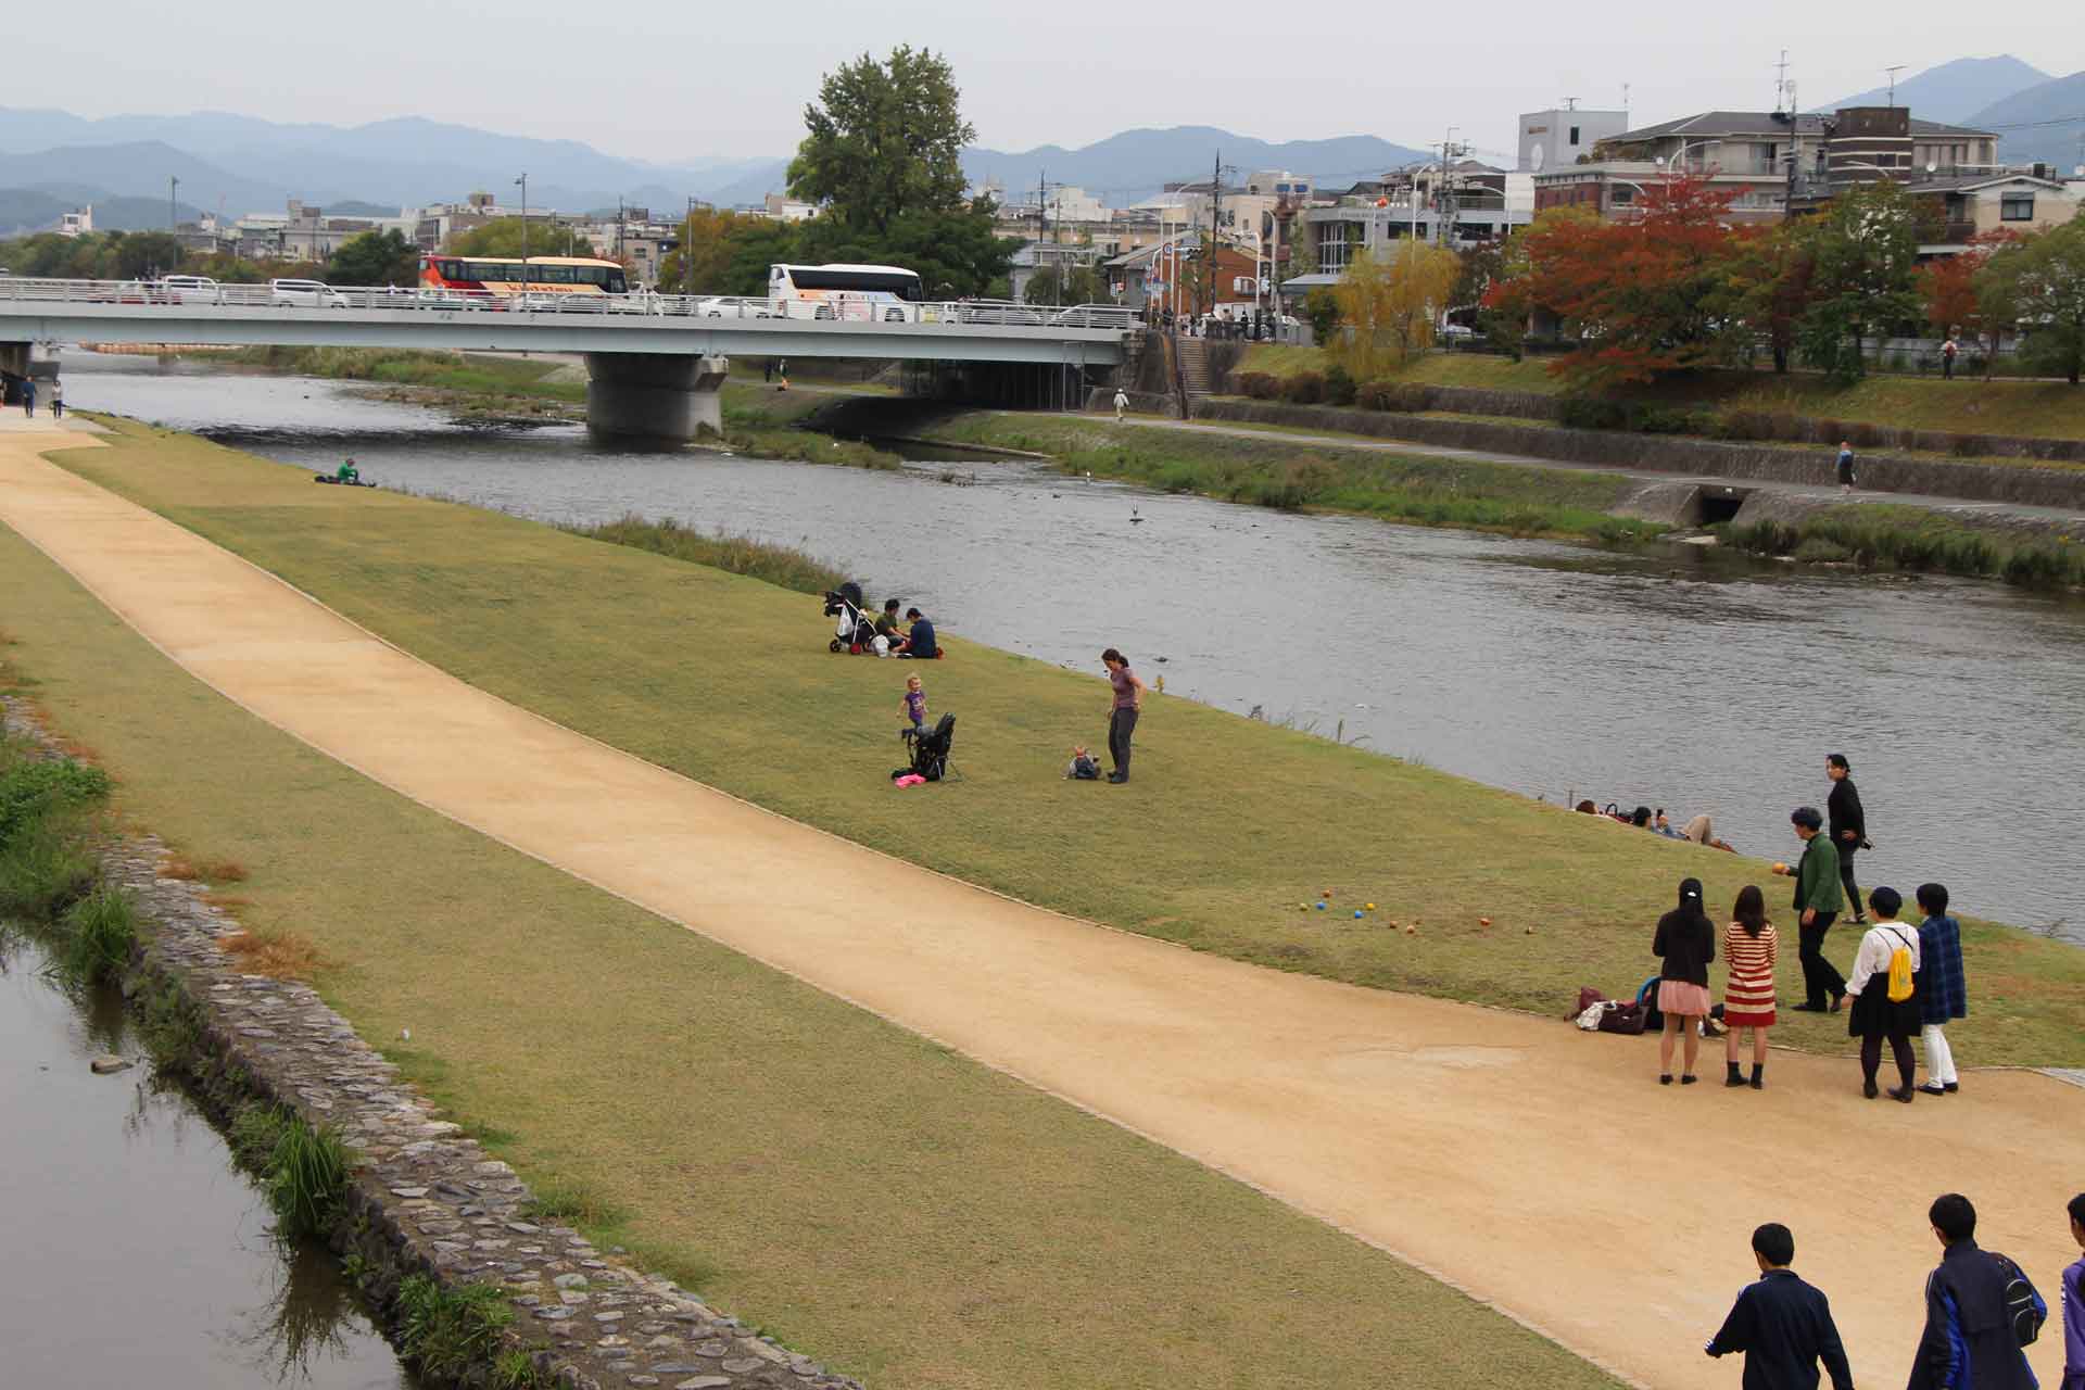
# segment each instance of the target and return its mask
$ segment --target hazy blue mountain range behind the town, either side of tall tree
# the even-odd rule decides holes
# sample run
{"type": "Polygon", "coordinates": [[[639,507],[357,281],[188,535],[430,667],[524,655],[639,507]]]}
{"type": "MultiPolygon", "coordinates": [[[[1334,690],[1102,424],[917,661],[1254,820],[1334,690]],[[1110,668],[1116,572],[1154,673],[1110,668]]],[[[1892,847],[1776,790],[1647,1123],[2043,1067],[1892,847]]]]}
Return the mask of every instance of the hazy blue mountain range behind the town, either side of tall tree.
{"type": "MultiPolygon", "coordinates": [[[[1205,177],[1216,152],[1241,171],[1293,169],[1324,183],[1372,177],[1420,158],[1374,135],[1270,144],[1213,127],[1124,131],[1080,150],[965,150],[963,169],[980,183],[999,175],[1009,196],[1078,183],[1109,202],[1134,202],[1168,181],[1205,177]]],[[[242,215],[302,198],[332,210],[350,200],[384,208],[461,202],[486,190],[517,204],[528,173],[536,208],[582,210],[617,200],[680,210],[688,198],[719,206],[780,192],[788,158],[686,158],[653,163],[605,154],[575,140],[500,135],[467,125],[400,117],[340,127],[275,123],[217,110],[179,117],[75,117],[67,110],[0,106],[0,233],[48,225],[48,200],[96,204],[98,225],[165,225],[169,192],[183,217],[196,208],[242,215]],[[179,179],[169,190],[169,179],[179,179]],[[33,198],[40,196],[42,200],[33,198]],[[115,200],[136,200],[121,217],[115,200]],[[102,208],[108,208],[106,217],[102,208]],[[158,217],[150,210],[158,208],[158,217]]]]}

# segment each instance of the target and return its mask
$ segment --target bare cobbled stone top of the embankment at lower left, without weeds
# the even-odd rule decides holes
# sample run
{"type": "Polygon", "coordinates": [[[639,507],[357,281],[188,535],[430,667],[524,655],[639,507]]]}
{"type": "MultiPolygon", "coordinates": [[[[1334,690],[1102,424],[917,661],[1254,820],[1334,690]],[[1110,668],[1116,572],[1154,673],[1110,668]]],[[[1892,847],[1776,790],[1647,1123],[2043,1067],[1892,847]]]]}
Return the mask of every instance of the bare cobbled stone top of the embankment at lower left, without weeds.
{"type": "MultiPolygon", "coordinates": [[[[13,702],[4,715],[10,731],[50,746],[13,702]]],[[[530,1221],[530,1190],[507,1163],[400,1084],[398,1067],[309,986],[242,973],[221,946],[238,923],[196,884],[163,877],[163,863],[152,838],[113,844],[102,859],[148,923],[125,994],[161,1009],[173,1000],[200,1029],[206,1102],[281,1104],[334,1127],[357,1155],[332,1244],[359,1257],[382,1315],[402,1280],[427,1273],[502,1288],[517,1313],[502,1350],[532,1350],[544,1386],[861,1390],[578,1230],[530,1221]]],[[[490,1384],[490,1359],[465,1382],[490,1384]]]]}

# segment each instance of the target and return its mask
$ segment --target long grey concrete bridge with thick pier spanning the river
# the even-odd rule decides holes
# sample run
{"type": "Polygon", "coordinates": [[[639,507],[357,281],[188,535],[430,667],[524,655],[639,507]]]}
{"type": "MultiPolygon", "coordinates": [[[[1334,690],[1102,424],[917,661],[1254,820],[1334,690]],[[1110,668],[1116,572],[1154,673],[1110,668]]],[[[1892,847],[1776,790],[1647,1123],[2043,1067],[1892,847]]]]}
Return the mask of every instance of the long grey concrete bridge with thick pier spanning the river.
{"type": "Polygon", "coordinates": [[[4,373],[27,373],[35,342],[582,352],[590,429],[676,440],[721,433],[717,392],[732,354],[1015,363],[1082,377],[1088,367],[1120,365],[1132,329],[1134,315],[1113,304],[817,304],[0,277],[4,373]]]}

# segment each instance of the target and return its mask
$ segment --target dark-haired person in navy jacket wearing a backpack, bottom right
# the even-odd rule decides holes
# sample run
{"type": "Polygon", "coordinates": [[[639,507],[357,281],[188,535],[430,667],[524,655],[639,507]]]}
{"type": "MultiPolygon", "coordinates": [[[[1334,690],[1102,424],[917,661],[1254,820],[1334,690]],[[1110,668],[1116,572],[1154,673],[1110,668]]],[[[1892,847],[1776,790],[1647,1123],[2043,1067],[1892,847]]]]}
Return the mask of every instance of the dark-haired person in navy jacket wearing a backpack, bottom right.
{"type": "Polygon", "coordinates": [[[1977,1248],[1977,1209],[1960,1192],[1935,1198],[1927,1219],[1943,1255],[1927,1275],[1927,1330],[1908,1390],[2035,1390],[2006,1309],[2018,1267],[1977,1248]]]}

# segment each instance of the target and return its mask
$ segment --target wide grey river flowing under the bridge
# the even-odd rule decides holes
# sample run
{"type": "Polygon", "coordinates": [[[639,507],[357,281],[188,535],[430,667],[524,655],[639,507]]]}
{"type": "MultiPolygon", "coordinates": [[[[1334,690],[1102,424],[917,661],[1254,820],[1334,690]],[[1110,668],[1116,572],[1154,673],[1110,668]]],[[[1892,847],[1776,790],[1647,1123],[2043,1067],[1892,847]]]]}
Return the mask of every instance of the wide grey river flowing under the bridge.
{"type": "MultiPolygon", "coordinates": [[[[67,402],[546,521],[640,513],[803,544],[945,634],[1366,740],[1551,802],[1710,813],[1789,859],[1845,752],[1864,886],[2085,942],[2085,602],[1286,515],[1038,465],[867,473],[482,429],[300,377],[67,354],[67,402]],[[976,479],[951,486],[947,477],[976,479]]],[[[805,642],[824,642],[805,598],[805,642]]],[[[1501,846],[1505,852],[1505,846],[1501,846]]],[[[1770,894],[1779,900],[1781,892],[1770,894]]]]}

